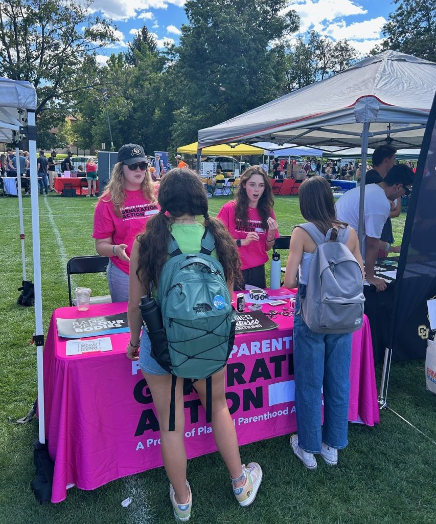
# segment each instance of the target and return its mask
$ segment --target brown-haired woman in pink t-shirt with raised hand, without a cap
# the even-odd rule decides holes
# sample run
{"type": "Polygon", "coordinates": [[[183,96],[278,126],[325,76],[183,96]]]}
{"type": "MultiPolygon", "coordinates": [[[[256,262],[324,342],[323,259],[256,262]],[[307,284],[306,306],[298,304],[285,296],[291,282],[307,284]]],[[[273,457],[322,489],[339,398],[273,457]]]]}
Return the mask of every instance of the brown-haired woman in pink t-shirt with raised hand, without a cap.
{"type": "Polygon", "coordinates": [[[224,204],[217,215],[236,239],[244,279],[242,288],[245,284],[266,287],[267,251],[278,237],[273,205],[270,179],[261,167],[252,166],[242,173],[236,200],[224,204]]]}

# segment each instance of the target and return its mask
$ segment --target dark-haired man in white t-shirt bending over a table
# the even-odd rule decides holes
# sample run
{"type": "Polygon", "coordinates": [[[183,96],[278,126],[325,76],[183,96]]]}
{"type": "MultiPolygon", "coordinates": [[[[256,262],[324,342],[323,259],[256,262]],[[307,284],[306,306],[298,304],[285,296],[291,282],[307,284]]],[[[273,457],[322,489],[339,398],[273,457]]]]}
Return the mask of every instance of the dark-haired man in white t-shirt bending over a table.
{"type": "MultiPolygon", "coordinates": [[[[390,245],[381,242],[383,226],[390,214],[390,202],[410,194],[413,172],[407,166],[394,166],[382,182],[365,187],[365,205],[363,220],[362,257],[365,260],[366,280],[377,291],[386,289],[386,282],[374,276],[374,266],[378,250],[388,251],[390,245]]],[[[348,223],[356,231],[359,227],[360,188],[346,191],[336,203],[338,220],[348,223]]]]}

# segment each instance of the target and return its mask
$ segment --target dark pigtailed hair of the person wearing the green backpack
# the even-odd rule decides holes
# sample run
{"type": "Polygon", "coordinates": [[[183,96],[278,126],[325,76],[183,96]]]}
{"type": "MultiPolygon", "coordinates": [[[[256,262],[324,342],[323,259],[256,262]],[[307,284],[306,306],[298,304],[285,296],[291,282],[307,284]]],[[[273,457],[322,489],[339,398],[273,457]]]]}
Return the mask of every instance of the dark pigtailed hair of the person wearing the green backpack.
{"type": "Polygon", "coordinates": [[[161,179],[158,202],[161,211],[147,221],[146,232],[138,235],[137,276],[145,289],[159,286],[162,267],[167,260],[168,243],[174,218],[184,214],[204,216],[216,242],[216,252],[227,282],[241,282],[239,253],[226,227],[208,215],[207,193],[198,174],[188,168],[175,168],[161,179]],[[165,212],[171,216],[167,216],[165,212]]]}

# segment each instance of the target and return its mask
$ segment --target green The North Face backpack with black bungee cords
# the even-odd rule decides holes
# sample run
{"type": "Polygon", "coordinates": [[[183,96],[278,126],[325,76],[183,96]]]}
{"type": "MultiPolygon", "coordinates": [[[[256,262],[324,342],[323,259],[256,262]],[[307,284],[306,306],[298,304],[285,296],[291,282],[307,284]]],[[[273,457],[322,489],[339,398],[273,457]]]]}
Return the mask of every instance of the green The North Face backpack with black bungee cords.
{"type": "MultiPolygon", "coordinates": [[[[177,377],[206,379],[206,420],[210,422],[211,375],[222,369],[233,347],[236,311],[219,261],[210,254],[215,239],[206,228],[200,253],[182,253],[172,236],[170,259],[159,279],[157,303],[162,312],[166,345],[152,347],[151,355],[177,377]]],[[[170,408],[170,430],[172,425],[170,408]]]]}

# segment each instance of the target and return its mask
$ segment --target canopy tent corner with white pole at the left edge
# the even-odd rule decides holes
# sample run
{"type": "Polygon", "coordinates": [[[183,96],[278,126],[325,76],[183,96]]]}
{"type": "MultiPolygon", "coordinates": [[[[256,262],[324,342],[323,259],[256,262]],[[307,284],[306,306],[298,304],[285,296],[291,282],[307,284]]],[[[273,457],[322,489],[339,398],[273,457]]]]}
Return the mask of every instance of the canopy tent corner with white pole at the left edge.
{"type": "MultiPolygon", "coordinates": [[[[33,339],[37,347],[38,367],[38,410],[39,410],[39,441],[46,440],[44,429],[44,387],[42,372],[42,290],[41,290],[41,252],[39,240],[39,204],[38,176],[36,154],[36,91],[29,82],[20,82],[0,77],[0,140],[18,144],[21,138],[29,140],[30,154],[30,188],[32,209],[32,247],[33,247],[33,281],[35,284],[35,334],[33,339]]],[[[18,155],[18,147],[16,148],[18,155]]],[[[17,170],[19,171],[19,161],[17,170]]],[[[20,177],[18,173],[18,183],[20,177]]],[[[21,190],[19,186],[18,199],[20,205],[20,227],[23,235],[23,209],[21,207],[21,190]]],[[[24,239],[23,271],[25,276],[24,239]]]]}

